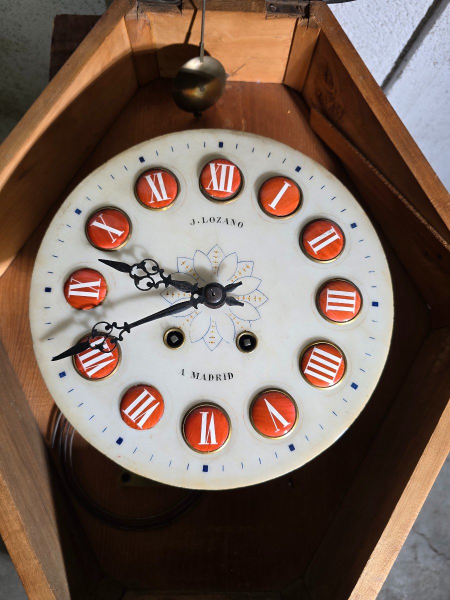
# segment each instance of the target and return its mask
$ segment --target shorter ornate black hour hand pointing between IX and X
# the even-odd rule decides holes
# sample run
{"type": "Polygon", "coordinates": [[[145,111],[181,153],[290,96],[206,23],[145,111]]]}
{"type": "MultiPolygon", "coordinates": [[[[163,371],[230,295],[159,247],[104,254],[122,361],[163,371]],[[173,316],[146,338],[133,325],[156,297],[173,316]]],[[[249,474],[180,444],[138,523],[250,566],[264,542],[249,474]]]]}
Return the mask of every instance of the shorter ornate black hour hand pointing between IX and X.
{"type": "Polygon", "coordinates": [[[161,285],[164,285],[166,288],[173,286],[180,292],[187,293],[196,293],[198,289],[197,284],[175,280],[172,279],[172,275],[164,274],[164,269],[161,269],[156,260],[153,259],[143,259],[139,263],[134,263],[134,265],[127,265],[127,263],[119,262],[118,260],[98,260],[104,265],[116,269],[116,271],[128,273],[131,279],[134,280],[134,285],[141,292],[146,292],[161,285]],[[158,276],[160,277],[159,280],[156,279],[158,276]]]}

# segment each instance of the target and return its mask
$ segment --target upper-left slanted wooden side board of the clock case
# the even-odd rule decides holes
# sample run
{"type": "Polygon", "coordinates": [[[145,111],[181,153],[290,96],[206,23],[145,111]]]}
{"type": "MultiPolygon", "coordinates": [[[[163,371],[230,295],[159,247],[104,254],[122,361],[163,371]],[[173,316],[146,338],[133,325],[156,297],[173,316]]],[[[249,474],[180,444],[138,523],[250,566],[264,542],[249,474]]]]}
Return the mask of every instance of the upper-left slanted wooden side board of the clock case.
{"type": "Polygon", "coordinates": [[[0,275],[137,89],[129,7],[115,2],[1,146],[0,275]]]}

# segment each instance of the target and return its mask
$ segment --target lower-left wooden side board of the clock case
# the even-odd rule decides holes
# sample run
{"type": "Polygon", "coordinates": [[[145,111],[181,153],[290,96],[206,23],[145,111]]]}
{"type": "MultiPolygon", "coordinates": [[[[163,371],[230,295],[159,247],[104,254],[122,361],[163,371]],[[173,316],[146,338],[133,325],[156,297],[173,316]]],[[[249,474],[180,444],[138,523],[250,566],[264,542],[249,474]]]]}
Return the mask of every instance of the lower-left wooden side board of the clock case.
{"type": "Polygon", "coordinates": [[[1,343],[0,402],[2,539],[30,600],[84,600],[101,571],[1,343]]]}

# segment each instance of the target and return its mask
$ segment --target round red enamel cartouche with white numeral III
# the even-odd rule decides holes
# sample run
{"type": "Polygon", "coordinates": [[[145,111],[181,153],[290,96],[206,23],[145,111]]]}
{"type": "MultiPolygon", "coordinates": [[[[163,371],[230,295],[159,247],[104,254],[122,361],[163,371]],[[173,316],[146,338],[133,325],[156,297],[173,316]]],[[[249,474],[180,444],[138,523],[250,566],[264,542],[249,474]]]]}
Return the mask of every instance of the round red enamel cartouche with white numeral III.
{"type": "Polygon", "coordinates": [[[332,323],[347,323],[355,319],[361,306],[361,292],[344,279],[327,281],[317,295],[320,313],[332,323]]]}

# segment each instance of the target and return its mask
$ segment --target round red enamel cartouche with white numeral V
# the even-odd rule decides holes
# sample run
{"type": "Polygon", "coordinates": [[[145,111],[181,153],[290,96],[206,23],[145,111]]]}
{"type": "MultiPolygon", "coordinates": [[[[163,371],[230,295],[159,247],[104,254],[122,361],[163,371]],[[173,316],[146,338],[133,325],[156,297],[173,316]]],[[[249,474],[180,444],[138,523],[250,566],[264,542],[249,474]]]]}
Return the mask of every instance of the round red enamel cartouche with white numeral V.
{"type": "Polygon", "coordinates": [[[295,427],[297,418],[295,400],[279,389],[262,392],[251,403],[251,424],[265,437],[286,436],[295,427]]]}

